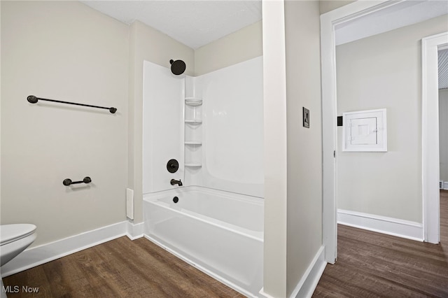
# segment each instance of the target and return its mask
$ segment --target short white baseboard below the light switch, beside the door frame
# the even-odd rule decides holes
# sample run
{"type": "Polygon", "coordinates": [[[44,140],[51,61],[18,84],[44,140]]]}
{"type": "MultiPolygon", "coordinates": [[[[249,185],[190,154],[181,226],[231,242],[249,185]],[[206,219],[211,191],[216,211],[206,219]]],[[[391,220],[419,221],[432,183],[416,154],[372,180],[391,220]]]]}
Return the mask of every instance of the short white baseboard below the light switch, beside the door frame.
{"type": "Polygon", "coordinates": [[[295,298],[308,298],[313,295],[314,290],[316,290],[319,279],[323,274],[323,270],[327,262],[325,262],[325,246],[321,246],[317,251],[314,259],[309,264],[307,271],[305,271],[302,279],[295,286],[293,293],[290,297],[295,298]]]}

